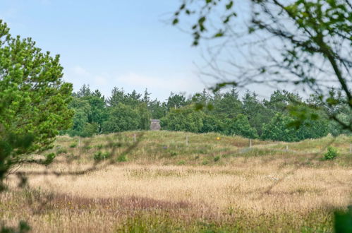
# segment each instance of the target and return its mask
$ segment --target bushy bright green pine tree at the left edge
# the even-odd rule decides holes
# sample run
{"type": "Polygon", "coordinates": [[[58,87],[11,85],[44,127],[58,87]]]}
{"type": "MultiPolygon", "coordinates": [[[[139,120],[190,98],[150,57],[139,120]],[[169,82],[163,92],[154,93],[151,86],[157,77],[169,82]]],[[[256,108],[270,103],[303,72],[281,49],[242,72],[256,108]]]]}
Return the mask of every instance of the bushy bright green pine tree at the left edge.
{"type": "Polygon", "coordinates": [[[71,126],[72,84],[62,80],[59,55],[43,53],[32,39],[11,37],[8,31],[0,20],[1,131],[17,136],[30,133],[32,143],[23,154],[44,151],[51,148],[59,130],[71,126]]]}

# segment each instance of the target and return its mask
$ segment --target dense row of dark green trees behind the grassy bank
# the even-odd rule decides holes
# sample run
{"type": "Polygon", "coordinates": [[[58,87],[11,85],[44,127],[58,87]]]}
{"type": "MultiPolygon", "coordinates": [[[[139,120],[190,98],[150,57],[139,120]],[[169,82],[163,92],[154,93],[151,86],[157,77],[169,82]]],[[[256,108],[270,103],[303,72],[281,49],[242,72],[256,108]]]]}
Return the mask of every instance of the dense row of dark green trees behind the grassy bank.
{"type": "Polygon", "coordinates": [[[239,97],[232,88],[225,92],[203,90],[190,97],[171,92],[166,101],[160,101],[152,100],[147,89],[140,94],[114,88],[111,97],[106,98],[99,90],[92,91],[89,85],[83,85],[73,92],[69,108],[75,112],[73,124],[61,134],[82,137],[148,130],[150,119],[160,119],[162,129],[169,131],[301,141],[328,133],[348,133],[329,119],[332,113],[346,123],[351,121],[350,110],[344,104],[330,106],[316,95],[303,100],[297,93],[286,90],[274,91],[268,100],[260,100],[255,92],[249,91],[239,97]]]}

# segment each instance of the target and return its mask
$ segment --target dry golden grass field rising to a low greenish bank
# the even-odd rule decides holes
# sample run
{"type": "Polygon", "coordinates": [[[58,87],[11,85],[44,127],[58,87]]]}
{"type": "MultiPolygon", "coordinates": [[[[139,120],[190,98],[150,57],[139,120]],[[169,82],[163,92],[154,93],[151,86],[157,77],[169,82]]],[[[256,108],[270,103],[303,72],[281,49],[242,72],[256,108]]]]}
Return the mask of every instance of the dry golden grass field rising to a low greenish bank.
{"type": "Polygon", "coordinates": [[[0,224],[24,220],[32,232],[332,232],[332,213],[352,201],[351,141],[248,148],[248,139],[216,133],[61,136],[56,162],[18,169],[28,176],[24,188],[8,177],[0,224]],[[336,160],[322,160],[327,145],[338,148],[336,160]]]}

